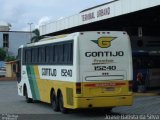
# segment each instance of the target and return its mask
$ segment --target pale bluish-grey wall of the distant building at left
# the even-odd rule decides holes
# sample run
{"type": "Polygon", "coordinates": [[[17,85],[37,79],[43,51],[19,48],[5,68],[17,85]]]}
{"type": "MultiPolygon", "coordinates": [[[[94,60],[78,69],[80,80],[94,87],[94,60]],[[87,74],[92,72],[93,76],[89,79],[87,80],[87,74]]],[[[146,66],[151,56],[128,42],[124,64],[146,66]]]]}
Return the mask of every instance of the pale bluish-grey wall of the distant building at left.
{"type": "Polygon", "coordinates": [[[3,34],[9,34],[9,48],[8,53],[12,56],[17,56],[18,48],[20,45],[30,43],[30,33],[29,32],[0,32],[0,47],[3,48],[3,34]]]}

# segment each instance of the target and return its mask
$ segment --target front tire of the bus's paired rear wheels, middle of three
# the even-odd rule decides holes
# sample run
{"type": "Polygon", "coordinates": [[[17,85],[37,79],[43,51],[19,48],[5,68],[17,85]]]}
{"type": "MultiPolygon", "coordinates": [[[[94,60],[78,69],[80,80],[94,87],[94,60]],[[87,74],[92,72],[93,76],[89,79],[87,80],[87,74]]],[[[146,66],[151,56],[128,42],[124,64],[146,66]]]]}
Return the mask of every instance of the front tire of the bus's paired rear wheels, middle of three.
{"type": "Polygon", "coordinates": [[[55,112],[59,111],[59,104],[57,102],[57,97],[54,91],[51,93],[51,106],[55,112]]]}

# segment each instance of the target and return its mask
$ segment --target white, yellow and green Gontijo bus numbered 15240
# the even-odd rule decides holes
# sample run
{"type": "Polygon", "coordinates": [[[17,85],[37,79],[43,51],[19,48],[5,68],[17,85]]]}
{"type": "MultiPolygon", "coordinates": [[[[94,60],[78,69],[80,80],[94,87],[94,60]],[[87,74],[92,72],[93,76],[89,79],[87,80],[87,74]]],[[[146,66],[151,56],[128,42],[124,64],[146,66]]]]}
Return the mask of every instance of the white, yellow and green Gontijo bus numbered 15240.
{"type": "Polygon", "coordinates": [[[55,111],[132,105],[126,32],[77,32],[19,48],[18,94],[55,111]]]}

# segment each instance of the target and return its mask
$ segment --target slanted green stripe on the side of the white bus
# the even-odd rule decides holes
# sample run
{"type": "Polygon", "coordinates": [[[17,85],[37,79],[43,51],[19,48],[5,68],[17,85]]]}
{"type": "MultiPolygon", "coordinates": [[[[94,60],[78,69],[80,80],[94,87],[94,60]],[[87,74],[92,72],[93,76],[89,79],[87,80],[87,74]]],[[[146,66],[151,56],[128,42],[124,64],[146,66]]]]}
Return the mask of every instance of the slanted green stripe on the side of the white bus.
{"type": "Polygon", "coordinates": [[[32,97],[34,100],[40,100],[37,81],[34,73],[34,67],[32,65],[27,65],[26,68],[27,68],[29,84],[32,92],[32,97]]]}

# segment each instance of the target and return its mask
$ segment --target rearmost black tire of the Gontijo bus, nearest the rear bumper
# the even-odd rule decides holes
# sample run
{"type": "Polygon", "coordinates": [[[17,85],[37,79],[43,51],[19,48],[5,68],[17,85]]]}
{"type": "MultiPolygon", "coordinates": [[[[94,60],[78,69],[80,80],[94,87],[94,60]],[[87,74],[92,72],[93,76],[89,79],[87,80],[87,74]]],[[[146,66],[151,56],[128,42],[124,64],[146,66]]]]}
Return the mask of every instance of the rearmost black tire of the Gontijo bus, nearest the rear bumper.
{"type": "Polygon", "coordinates": [[[62,93],[60,92],[59,93],[59,109],[62,113],[66,114],[68,113],[68,109],[64,107],[64,102],[63,102],[63,95],[62,93]]]}

